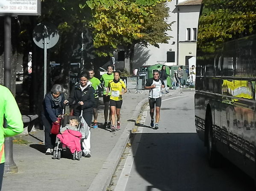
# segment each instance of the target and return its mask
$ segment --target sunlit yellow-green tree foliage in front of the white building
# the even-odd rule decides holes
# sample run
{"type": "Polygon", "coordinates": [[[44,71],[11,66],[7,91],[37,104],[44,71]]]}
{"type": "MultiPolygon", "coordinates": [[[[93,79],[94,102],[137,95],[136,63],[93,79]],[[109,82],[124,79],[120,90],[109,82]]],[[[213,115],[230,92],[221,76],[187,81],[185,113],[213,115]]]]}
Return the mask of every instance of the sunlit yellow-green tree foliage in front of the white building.
{"type": "MultiPolygon", "coordinates": [[[[112,51],[124,48],[126,58],[132,59],[136,43],[144,46],[167,43],[165,31],[169,0],[89,0],[93,20],[94,47],[100,56],[112,55],[112,51]]],[[[80,5],[83,9],[86,5],[80,5]]]]}

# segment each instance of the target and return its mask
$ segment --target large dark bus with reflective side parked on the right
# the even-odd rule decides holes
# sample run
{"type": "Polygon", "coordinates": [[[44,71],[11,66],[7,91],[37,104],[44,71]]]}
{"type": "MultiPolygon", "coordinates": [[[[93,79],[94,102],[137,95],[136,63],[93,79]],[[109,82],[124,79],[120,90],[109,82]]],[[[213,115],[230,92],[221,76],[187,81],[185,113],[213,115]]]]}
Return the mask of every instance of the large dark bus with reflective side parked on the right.
{"type": "Polygon", "coordinates": [[[210,166],[225,157],[256,176],[256,0],[203,0],[195,125],[210,166]]]}

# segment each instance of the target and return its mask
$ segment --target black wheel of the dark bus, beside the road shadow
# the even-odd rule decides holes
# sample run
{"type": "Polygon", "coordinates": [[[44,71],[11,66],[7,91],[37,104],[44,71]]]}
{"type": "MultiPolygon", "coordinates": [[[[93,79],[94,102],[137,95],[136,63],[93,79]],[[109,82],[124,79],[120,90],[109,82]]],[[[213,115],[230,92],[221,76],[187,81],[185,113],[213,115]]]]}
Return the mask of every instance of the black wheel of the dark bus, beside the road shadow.
{"type": "Polygon", "coordinates": [[[212,114],[208,114],[206,118],[206,135],[207,135],[207,157],[209,166],[212,168],[220,166],[220,154],[215,148],[215,137],[213,136],[212,114]]]}

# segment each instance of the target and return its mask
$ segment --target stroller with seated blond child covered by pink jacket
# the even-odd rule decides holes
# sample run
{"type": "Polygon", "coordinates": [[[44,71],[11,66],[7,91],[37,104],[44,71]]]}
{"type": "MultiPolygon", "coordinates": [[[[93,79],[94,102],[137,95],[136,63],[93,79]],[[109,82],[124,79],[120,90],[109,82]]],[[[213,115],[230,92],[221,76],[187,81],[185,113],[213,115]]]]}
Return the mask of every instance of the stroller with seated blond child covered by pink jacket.
{"type": "MultiPolygon", "coordinates": [[[[64,118],[67,117],[69,116],[64,116],[64,118]]],[[[78,120],[75,118],[69,119],[69,124],[65,125],[63,128],[61,127],[60,134],[56,137],[57,146],[53,151],[53,159],[60,159],[61,151],[65,151],[67,146],[70,149],[71,154],[73,154],[73,160],[80,160],[82,157],[81,138],[82,134],[79,132],[78,120]]]]}

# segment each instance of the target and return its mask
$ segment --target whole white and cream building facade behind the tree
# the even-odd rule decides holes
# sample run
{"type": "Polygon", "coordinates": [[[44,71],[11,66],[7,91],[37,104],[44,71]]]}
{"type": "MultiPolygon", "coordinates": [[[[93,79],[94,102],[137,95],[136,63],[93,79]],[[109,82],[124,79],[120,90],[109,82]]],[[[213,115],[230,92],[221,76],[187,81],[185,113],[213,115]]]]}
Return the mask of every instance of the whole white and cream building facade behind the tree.
{"type": "Polygon", "coordinates": [[[167,34],[171,36],[167,44],[143,47],[135,46],[135,55],[132,60],[133,68],[144,65],[154,65],[156,63],[167,66],[191,65],[195,63],[197,26],[202,0],[173,0],[168,2],[169,18],[168,23],[175,21],[171,26],[171,31],[167,34]]]}

